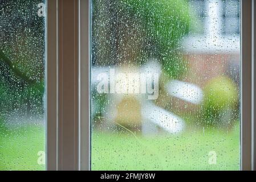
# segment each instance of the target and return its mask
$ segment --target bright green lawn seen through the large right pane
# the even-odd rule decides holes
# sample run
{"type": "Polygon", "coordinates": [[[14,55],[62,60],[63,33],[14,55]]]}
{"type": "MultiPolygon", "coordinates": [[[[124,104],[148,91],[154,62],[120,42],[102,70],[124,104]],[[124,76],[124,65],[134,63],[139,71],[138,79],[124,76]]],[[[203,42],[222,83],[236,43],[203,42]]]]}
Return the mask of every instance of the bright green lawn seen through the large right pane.
{"type": "Polygon", "coordinates": [[[239,125],[137,139],[124,133],[92,135],[92,170],[239,170],[239,125]],[[217,164],[209,164],[210,151],[217,164]]]}

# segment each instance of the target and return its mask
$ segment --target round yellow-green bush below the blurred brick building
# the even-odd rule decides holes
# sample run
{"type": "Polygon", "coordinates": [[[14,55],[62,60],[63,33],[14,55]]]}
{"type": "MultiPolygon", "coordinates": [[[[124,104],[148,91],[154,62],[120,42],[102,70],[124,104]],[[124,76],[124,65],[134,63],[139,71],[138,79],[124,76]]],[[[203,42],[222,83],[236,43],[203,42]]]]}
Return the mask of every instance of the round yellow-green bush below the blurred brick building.
{"type": "MultiPolygon", "coordinates": [[[[220,117],[232,111],[238,102],[238,90],[230,78],[213,78],[205,85],[205,98],[202,105],[204,119],[209,125],[220,124],[220,117]],[[210,122],[210,123],[209,123],[210,122]]],[[[229,121],[226,121],[229,122],[229,121]]]]}

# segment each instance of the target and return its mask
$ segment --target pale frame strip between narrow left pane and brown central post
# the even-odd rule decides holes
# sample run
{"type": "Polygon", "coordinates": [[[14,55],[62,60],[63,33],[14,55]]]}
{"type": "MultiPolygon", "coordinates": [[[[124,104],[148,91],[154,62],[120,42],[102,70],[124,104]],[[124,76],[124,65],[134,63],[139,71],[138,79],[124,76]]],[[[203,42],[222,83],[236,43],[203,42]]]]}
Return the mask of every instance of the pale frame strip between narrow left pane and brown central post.
{"type": "Polygon", "coordinates": [[[57,1],[46,1],[46,170],[57,170],[57,1]],[[50,79],[51,78],[51,79],[50,79]]]}

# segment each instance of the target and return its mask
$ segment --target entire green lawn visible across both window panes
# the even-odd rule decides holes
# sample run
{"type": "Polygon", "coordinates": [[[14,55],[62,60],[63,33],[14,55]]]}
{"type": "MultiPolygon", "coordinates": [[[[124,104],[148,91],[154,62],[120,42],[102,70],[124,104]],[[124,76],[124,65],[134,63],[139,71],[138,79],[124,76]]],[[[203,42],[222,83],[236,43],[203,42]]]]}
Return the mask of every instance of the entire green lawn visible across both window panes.
{"type": "MultiPolygon", "coordinates": [[[[44,170],[45,129],[27,126],[0,132],[0,170],[44,170]]],[[[205,129],[181,135],[143,137],[127,131],[92,135],[93,170],[239,170],[239,125],[232,130],[205,129]],[[217,164],[210,165],[209,152],[217,164]]]]}

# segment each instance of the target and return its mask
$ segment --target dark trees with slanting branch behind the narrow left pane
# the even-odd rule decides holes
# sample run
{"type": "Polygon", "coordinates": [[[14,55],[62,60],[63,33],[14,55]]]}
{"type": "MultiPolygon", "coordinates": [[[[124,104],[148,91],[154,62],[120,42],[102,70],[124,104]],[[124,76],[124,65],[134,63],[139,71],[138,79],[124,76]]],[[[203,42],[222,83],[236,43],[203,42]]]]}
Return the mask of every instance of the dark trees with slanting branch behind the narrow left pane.
{"type": "MultiPolygon", "coordinates": [[[[43,112],[45,23],[37,15],[44,0],[0,2],[0,115],[43,112]]],[[[39,114],[37,114],[39,115],[39,114]]]]}

